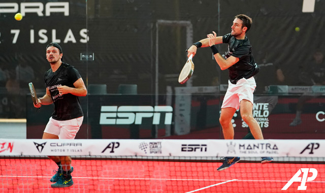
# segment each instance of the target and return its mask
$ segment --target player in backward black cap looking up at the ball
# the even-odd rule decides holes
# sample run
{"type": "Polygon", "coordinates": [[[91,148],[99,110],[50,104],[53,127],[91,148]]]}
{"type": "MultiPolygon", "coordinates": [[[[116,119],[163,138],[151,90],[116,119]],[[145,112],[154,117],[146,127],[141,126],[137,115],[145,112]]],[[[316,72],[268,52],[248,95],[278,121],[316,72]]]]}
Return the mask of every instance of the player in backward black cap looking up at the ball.
{"type": "MultiPolygon", "coordinates": [[[[43,139],[74,139],[82,124],[83,112],[78,97],[87,94],[86,86],[78,71],[63,63],[62,48],[57,43],[50,43],[46,47],[46,59],[50,63],[44,76],[46,94],[39,98],[39,104],[50,105],[54,103],[54,112],[47,123],[43,139]]],[[[73,184],[70,156],[49,156],[58,170],[50,179],[51,187],[69,187],[73,184]]]]}

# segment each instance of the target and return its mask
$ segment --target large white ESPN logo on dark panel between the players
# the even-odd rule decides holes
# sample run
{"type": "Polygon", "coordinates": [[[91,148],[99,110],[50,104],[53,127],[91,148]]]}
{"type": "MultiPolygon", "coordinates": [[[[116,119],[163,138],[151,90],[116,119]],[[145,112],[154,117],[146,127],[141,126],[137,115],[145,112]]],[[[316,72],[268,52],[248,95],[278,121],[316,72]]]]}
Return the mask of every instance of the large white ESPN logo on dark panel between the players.
{"type": "Polygon", "coordinates": [[[143,118],[152,118],[152,124],[160,123],[165,113],[165,124],[172,124],[171,106],[102,106],[100,124],[142,124],[143,118]]]}

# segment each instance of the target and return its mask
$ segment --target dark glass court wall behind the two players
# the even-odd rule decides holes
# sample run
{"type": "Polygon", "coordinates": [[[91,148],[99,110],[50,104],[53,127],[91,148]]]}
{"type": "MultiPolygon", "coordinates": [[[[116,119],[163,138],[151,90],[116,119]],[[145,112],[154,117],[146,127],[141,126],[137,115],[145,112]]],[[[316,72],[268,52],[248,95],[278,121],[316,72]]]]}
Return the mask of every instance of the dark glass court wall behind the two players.
{"type": "MultiPolygon", "coordinates": [[[[63,62],[77,68],[88,89],[80,98],[85,118],[77,138],[223,138],[218,118],[228,70],[220,70],[209,48],[199,48],[191,79],[181,85],[178,74],[192,43],[212,31],[230,33],[234,16],[246,14],[253,19],[247,37],[261,67],[253,114],[265,138],[322,139],[323,8],[321,1],[303,0],[4,0],[0,118],[26,120],[26,138],[42,137],[53,106],[37,112],[27,83],[39,97],[45,94],[45,48],[57,42],[63,62]],[[17,12],[21,21],[14,19],[17,12]],[[121,106],[139,111],[129,108],[123,117],[121,106]]],[[[220,53],[228,49],[218,47],[220,53]]],[[[251,138],[239,111],[233,125],[236,139],[251,138]]]]}

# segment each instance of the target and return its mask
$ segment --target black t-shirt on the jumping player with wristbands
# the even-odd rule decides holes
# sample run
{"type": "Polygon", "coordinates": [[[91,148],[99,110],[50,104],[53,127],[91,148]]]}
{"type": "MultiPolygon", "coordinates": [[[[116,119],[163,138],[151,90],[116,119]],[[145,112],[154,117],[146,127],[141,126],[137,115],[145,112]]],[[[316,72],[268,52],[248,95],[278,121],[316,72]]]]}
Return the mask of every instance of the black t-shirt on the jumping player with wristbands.
{"type": "Polygon", "coordinates": [[[239,58],[237,63],[228,68],[231,83],[236,84],[238,80],[248,79],[258,73],[259,67],[254,61],[251,45],[246,36],[244,40],[237,40],[231,34],[226,34],[222,37],[222,43],[228,43],[226,58],[230,56],[239,58]]]}

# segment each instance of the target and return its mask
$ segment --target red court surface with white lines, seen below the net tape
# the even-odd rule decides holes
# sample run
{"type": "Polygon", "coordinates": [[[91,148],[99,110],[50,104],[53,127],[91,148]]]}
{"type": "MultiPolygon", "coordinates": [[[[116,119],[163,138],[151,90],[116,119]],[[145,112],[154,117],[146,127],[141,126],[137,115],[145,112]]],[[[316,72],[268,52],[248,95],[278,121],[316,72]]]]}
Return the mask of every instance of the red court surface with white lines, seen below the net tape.
{"type": "MultiPolygon", "coordinates": [[[[56,165],[49,159],[0,159],[0,192],[325,192],[323,164],[239,162],[218,172],[221,163],[135,160],[73,160],[74,185],[51,188],[56,165]],[[317,177],[283,186],[301,169],[314,168],[317,177]]],[[[310,177],[312,173],[308,174],[310,177]]],[[[302,177],[303,174],[300,175],[302,177]]]]}

